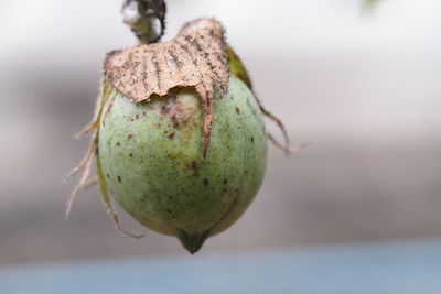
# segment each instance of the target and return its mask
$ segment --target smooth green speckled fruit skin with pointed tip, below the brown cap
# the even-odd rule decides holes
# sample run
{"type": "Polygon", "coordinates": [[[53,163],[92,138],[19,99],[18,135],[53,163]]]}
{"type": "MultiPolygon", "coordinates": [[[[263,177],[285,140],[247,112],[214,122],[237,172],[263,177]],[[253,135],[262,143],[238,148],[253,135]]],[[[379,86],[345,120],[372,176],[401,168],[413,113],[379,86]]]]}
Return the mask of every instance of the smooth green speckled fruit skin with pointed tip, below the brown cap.
{"type": "Polygon", "coordinates": [[[178,237],[191,252],[249,206],[263,178],[267,132],[251,90],[230,76],[217,97],[203,157],[203,107],[192,90],[133,102],[116,89],[99,126],[107,187],[139,222],[178,237]]]}

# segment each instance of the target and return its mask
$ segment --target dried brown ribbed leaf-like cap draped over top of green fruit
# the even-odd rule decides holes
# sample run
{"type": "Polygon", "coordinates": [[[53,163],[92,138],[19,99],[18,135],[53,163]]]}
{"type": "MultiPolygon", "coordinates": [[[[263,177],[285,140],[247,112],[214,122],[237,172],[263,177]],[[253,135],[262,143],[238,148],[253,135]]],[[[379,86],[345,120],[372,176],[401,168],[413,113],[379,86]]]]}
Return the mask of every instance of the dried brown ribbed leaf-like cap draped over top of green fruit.
{"type": "Polygon", "coordinates": [[[204,156],[208,151],[215,88],[228,91],[229,66],[222,24],[213,19],[187,23],[169,42],[111,52],[105,61],[106,77],[135,101],[168,95],[176,87],[194,87],[204,105],[204,156]]]}

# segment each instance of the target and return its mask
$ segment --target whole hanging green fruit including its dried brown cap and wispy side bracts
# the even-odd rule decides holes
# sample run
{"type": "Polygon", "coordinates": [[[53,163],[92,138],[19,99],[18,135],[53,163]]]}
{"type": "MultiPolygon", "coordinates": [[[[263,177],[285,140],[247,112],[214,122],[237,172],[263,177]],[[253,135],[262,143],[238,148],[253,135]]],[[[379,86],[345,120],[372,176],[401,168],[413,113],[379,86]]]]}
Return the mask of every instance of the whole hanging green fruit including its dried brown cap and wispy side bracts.
{"type": "MultiPolygon", "coordinates": [[[[125,7],[131,9],[135,1],[141,3],[127,0],[125,7]]],[[[138,8],[140,18],[129,24],[142,42],[153,42],[162,32],[149,34],[153,26],[143,24],[152,21],[149,10],[138,8]]],[[[164,7],[158,8],[163,20],[164,7]]],[[[120,228],[111,195],[140,224],[178,237],[196,252],[255,198],[263,179],[267,138],[288,151],[288,144],[267,134],[262,116],[286,134],[283,124],[260,105],[245,66],[213,19],[185,24],[168,42],[110,52],[104,74],[95,118],[82,132],[95,131],[94,139],[73,171],[84,174],[66,213],[88,186],[95,156],[103,198],[119,231],[138,237],[120,228]]]]}

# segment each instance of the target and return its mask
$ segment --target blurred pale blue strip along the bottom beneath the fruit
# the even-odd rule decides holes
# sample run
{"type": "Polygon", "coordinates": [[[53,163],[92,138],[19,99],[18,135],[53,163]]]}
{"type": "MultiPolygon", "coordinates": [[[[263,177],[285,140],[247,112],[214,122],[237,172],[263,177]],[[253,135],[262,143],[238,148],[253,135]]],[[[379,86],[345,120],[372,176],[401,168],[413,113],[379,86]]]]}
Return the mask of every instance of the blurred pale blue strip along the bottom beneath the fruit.
{"type": "Polygon", "coordinates": [[[0,293],[440,294],[441,240],[9,268],[0,293]]]}

